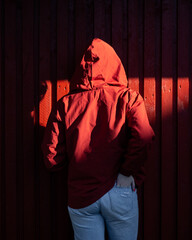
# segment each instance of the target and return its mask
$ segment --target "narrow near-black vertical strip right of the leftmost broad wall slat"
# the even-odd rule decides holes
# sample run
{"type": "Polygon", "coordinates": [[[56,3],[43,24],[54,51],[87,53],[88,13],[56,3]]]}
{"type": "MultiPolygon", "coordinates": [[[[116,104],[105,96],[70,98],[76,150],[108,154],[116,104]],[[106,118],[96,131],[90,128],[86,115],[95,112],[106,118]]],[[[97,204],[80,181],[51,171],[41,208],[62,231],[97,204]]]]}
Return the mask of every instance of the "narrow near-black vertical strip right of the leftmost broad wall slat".
{"type": "Polygon", "coordinates": [[[24,239],[22,2],[16,2],[16,213],[17,239],[24,239]]]}

